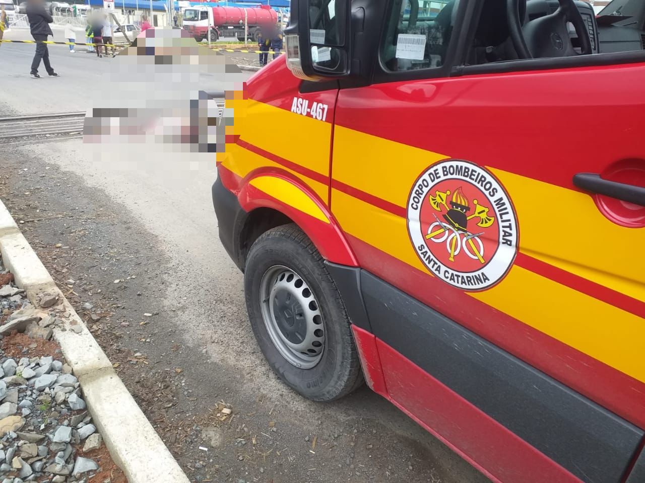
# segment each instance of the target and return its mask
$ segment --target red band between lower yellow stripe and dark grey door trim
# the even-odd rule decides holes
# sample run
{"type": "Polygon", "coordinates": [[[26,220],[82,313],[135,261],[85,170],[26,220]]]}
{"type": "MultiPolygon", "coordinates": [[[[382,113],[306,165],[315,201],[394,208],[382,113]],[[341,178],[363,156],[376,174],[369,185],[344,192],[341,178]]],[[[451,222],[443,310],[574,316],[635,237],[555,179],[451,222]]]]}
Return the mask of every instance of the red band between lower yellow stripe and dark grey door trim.
{"type": "Polygon", "coordinates": [[[526,363],[645,427],[645,385],[553,337],[510,317],[474,298],[412,269],[402,261],[353,236],[350,245],[361,267],[372,273],[387,270],[388,281],[419,301],[435,308],[526,363]],[[458,302],[457,302],[458,301],[458,302]],[[478,314],[464,317],[464,314],[478,314]],[[491,323],[490,321],[494,321],[491,323]],[[535,350],[539,346],[540,350],[535,350]]]}

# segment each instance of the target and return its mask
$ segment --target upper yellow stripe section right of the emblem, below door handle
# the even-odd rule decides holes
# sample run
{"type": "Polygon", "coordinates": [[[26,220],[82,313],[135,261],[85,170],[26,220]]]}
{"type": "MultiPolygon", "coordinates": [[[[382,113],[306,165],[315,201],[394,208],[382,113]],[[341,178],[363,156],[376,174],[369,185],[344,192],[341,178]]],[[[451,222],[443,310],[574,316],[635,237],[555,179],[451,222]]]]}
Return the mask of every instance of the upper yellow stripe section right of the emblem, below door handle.
{"type": "Polygon", "coordinates": [[[645,263],[640,261],[645,229],[612,223],[588,194],[488,169],[506,187],[515,205],[522,253],[645,300],[645,263]]]}

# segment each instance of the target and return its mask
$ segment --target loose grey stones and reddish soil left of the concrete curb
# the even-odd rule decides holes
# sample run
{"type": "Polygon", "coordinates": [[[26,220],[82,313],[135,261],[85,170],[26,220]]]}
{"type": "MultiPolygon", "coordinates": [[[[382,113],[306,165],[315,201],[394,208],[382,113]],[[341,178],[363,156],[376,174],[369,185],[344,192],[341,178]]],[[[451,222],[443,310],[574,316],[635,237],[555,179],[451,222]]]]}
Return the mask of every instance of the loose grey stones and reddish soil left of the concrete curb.
{"type": "Polygon", "coordinates": [[[11,278],[0,261],[0,481],[126,483],[50,341],[66,317],[58,296],[45,294],[34,308],[11,278]]]}

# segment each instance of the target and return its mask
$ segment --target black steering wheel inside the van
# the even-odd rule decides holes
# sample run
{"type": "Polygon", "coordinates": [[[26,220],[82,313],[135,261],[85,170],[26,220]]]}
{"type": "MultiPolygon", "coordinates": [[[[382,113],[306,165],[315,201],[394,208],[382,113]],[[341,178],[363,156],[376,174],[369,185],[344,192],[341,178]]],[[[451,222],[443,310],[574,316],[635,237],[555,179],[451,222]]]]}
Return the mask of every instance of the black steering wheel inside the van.
{"type": "MultiPolygon", "coordinates": [[[[506,0],[506,17],[511,41],[520,59],[568,57],[591,53],[587,24],[573,0],[558,0],[560,6],[553,14],[544,15],[522,25],[520,7],[526,0],[506,0]],[[581,53],[575,52],[567,28],[571,22],[580,39],[581,53]]],[[[522,8],[522,11],[525,11],[522,8]]],[[[524,15],[522,15],[524,17],[524,15]]]]}

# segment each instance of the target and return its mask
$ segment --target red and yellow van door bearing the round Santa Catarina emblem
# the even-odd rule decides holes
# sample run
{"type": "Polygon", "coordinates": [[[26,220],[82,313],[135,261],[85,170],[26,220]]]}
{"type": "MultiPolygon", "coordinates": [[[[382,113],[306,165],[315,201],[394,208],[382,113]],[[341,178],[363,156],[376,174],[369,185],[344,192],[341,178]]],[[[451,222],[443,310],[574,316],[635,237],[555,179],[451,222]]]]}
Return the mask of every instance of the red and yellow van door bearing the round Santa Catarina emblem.
{"type": "Polygon", "coordinates": [[[644,185],[645,66],[457,76],[473,5],[392,1],[373,84],[339,91],[332,210],[395,403],[499,480],[617,482],[645,428],[644,218],[577,184],[644,185]]]}

